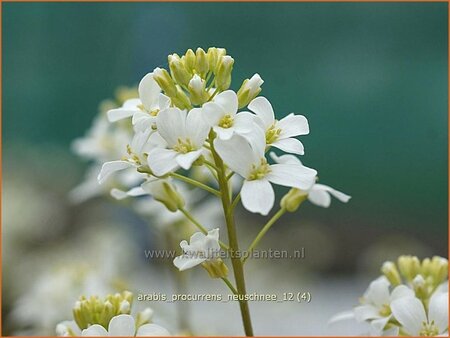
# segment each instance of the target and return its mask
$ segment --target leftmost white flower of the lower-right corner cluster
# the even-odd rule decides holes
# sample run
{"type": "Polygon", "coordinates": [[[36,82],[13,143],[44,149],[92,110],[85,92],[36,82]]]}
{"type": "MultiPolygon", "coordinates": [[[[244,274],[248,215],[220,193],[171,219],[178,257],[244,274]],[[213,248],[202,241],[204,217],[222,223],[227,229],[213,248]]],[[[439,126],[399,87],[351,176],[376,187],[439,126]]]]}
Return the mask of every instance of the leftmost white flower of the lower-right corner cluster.
{"type": "Polygon", "coordinates": [[[354,308],[355,319],[358,322],[370,320],[371,334],[381,335],[389,319],[391,319],[391,303],[396,299],[413,297],[414,291],[405,285],[395,287],[389,291],[390,283],[385,276],[381,276],[370,283],[362,297],[362,305],[354,308]]]}

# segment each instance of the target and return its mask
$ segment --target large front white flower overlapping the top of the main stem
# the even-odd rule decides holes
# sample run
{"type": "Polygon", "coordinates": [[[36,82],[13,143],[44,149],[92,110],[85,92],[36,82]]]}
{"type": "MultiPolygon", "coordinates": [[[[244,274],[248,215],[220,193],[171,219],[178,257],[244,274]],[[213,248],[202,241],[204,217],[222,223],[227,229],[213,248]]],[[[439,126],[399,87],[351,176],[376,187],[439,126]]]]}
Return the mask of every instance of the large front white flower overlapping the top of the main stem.
{"type": "Polygon", "coordinates": [[[264,157],[264,137],[255,137],[252,145],[239,135],[230,140],[216,139],[214,146],[223,161],[244,178],[241,189],[243,206],[267,215],[275,201],[270,183],[308,190],[314,184],[317,171],[301,164],[269,165],[264,157]]]}

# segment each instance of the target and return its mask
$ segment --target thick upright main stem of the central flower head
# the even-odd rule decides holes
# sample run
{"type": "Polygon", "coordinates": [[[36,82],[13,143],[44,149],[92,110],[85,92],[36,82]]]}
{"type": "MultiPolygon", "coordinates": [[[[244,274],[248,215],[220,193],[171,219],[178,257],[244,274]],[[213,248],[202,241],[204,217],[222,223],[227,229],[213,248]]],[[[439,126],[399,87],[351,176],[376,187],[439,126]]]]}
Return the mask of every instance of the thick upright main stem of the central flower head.
{"type": "MultiPolygon", "coordinates": [[[[211,153],[214,158],[214,163],[218,168],[218,181],[219,188],[221,191],[222,198],[222,207],[225,216],[225,222],[227,225],[228,231],[228,241],[230,245],[230,257],[231,257],[231,265],[233,267],[234,278],[236,281],[236,289],[238,295],[245,295],[247,291],[245,290],[245,278],[244,278],[244,268],[239,258],[239,243],[237,239],[236,227],[234,224],[234,214],[231,208],[231,198],[230,191],[228,187],[228,182],[225,173],[225,165],[214,149],[213,145],[213,135],[210,134],[210,144],[211,144],[211,153]]],[[[248,307],[248,302],[245,300],[245,297],[240,297],[239,307],[241,310],[242,322],[244,324],[244,331],[246,336],[253,336],[253,328],[252,322],[250,318],[250,310],[248,307]],[[242,299],[242,300],[241,300],[242,299]]]]}

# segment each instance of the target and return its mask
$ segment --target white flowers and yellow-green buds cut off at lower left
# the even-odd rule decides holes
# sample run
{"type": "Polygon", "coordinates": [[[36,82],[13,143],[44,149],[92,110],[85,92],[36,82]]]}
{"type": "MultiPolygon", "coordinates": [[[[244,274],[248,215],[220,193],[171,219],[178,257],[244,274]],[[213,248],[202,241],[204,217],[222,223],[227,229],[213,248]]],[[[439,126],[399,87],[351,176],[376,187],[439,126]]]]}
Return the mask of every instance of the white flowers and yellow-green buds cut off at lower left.
{"type": "Polygon", "coordinates": [[[169,332],[151,323],[153,311],[150,308],[139,312],[136,319],[130,315],[133,295],[121,294],[81,297],[73,308],[72,321],[64,321],[56,326],[58,336],[169,336],[169,332]]]}

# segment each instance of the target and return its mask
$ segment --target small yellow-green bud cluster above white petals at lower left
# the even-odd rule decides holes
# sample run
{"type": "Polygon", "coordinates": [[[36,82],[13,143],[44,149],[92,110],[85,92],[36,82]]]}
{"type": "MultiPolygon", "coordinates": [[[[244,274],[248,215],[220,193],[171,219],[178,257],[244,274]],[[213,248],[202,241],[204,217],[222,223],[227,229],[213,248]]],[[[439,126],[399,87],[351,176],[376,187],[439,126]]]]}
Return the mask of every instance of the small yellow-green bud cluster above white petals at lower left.
{"type": "Polygon", "coordinates": [[[114,316],[130,314],[133,294],[129,291],[108,295],[105,299],[97,296],[86,298],[82,296],[75,303],[73,317],[80,329],[86,329],[91,325],[99,324],[104,328],[114,316]]]}

